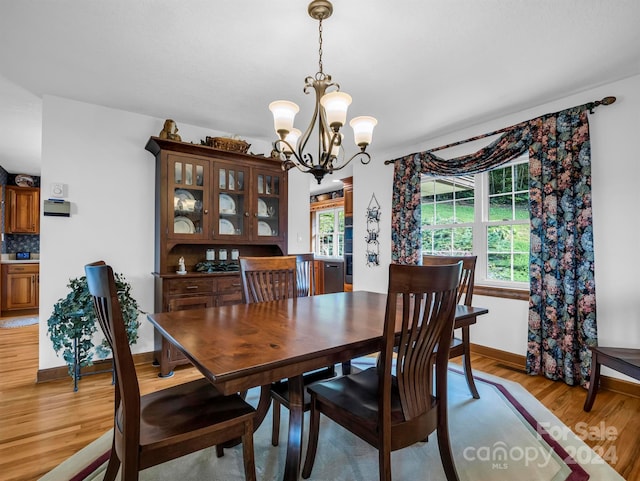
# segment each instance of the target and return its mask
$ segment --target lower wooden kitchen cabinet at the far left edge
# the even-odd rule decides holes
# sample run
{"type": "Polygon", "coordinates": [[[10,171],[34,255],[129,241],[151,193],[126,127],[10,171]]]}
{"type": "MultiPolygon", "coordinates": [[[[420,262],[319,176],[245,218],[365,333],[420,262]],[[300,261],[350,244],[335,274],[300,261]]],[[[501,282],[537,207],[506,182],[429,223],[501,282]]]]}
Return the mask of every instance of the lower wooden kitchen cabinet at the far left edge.
{"type": "Polygon", "coordinates": [[[37,309],[39,264],[2,264],[2,310],[37,309]]]}

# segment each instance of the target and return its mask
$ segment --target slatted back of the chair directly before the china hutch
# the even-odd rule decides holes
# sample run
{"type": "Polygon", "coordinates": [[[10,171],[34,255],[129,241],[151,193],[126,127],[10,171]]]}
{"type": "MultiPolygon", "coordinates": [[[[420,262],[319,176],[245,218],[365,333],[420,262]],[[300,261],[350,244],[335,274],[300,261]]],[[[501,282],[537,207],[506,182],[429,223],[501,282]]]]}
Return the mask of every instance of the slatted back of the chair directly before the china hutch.
{"type": "Polygon", "coordinates": [[[295,256],[240,257],[246,304],[298,297],[295,256]]]}

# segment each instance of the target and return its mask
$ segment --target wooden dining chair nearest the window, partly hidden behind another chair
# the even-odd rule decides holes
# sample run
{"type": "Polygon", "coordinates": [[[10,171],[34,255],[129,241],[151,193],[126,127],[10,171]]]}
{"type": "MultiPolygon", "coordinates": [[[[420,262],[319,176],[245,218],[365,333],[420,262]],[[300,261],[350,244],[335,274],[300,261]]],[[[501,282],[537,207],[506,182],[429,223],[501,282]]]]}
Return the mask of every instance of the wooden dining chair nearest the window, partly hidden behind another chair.
{"type": "MultiPolygon", "coordinates": [[[[452,262],[462,261],[462,275],[460,276],[460,284],[458,285],[458,304],[470,306],[473,301],[473,287],[475,284],[477,256],[422,256],[423,266],[436,266],[443,264],[451,264],[452,262]]],[[[451,341],[451,349],[449,358],[462,356],[462,369],[467,380],[467,386],[474,399],[480,399],[478,388],[473,379],[473,371],[471,370],[471,341],[469,338],[469,326],[460,328],[460,337],[453,336],[451,341]]]]}

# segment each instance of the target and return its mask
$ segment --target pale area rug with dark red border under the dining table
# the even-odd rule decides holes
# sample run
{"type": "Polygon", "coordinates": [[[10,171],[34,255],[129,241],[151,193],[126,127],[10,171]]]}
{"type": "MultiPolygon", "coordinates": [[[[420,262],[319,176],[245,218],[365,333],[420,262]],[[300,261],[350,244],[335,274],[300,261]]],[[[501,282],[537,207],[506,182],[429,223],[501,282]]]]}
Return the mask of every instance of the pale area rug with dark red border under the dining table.
{"type": "MultiPolygon", "coordinates": [[[[477,372],[480,399],[475,400],[457,367],[452,365],[450,372],[449,425],[461,481],[624,481],[519,384],[477,372]]],[[[249,392],[248,399],[257,402],[257,397],[256,390],[249,392]]],[[[278,447],[271,446],[271,412],[254,435],[260,480],[282,479],[287,420],[288,416],[282,416],[278,447]]],[[[377,451],[330,420],[323,417],[321,422],[318,452],[309,479],[378,479],[377,451]]],[[[306,428],[307,425],[305,437],[306,428]]],[[[111,439],[109,431],[41,480],[101,480],[111,439]]],[[[303,456],[305,452],[306,441],[303,456]]],[[[446,481],[435,433],[426,443],[394,451],[391,462],[396,481],[446,481]]],[[[176,479],[244,479],[241,448],[226,449],[222,458],[216,457],[215,449],[205,449],[140,473],[141,481],[176,479]]]]}

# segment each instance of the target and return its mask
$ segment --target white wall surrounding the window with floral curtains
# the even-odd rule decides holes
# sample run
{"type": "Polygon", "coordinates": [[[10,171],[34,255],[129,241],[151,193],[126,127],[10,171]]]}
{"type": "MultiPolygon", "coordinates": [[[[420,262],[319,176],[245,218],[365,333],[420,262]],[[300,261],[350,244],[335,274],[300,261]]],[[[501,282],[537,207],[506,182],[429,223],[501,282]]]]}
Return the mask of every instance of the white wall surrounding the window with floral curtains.
{"type": "MultiPolygon", "coordinates": [[[[640,310],[635,297],[639,294],[635,275],[640,271],[640,256],[637,255],[640,221],[636,212],[635,194],[640,179],[637,153],[640,76],[558,99],[423,144],[403,146],[393,152],[372,150],[373,160],[370,165],[354,167],[354,289],[384,292],[387,286],[393,167],[385,166],[384,160],[492,132],[609,95],[617,97],[617,102],[601,106],[589,116],[598,336],[601,345],[640,347],[640,310]],[[365,226],[364,220],[359,216],[364,215],[374,192],[382,205],[381,251],[384,254],[380,267],[367,267],[364,259],[365,226]]],[[[384,123],[380,122],[377,128],[384,128],[384,123]]],[[[372,147],[375,147],[375,143],[372,147]]],[[[488,307],[490,313],[482,316],[471,330],[472,342],[524,355],[527,345],[528,303],[482,296],[474,296],[474,303],[488,307]]],[[[603,373],[631,380],[609,369],[603,368],[603,373]]]]}

